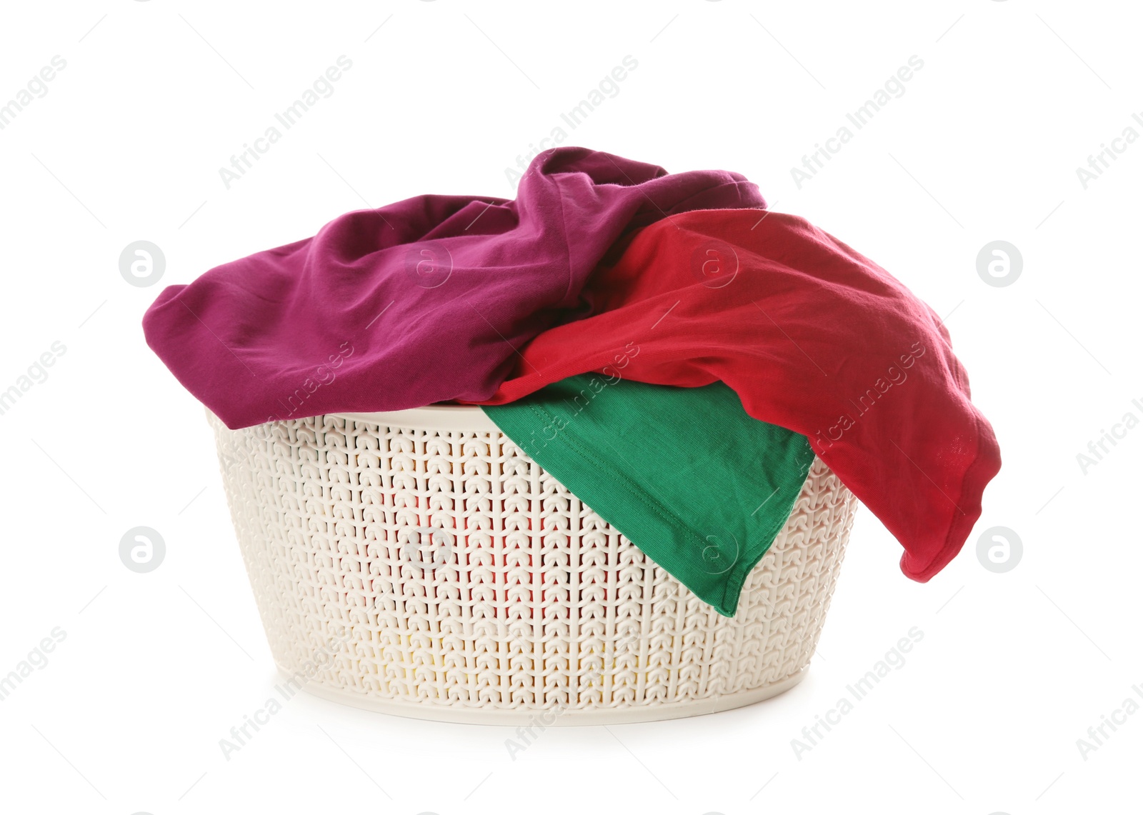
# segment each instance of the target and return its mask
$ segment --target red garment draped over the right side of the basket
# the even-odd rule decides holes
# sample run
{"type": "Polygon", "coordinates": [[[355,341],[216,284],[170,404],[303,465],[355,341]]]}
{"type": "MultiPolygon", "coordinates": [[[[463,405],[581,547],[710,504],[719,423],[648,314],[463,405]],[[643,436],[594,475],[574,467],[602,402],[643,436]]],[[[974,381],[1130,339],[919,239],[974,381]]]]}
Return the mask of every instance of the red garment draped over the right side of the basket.
{"type": "MultiPolygon", "coordinates": [[[[488,400],[574,374],[694,387],[805,434],[927,581],[960,551],[1000,469],[992,428],[936,313],[805,219],[698,210],[641,230],[582,291],[588,317],[520,349],[488,400]]],[[[655,439],[669,455],[671,440],[655,439]]]]}

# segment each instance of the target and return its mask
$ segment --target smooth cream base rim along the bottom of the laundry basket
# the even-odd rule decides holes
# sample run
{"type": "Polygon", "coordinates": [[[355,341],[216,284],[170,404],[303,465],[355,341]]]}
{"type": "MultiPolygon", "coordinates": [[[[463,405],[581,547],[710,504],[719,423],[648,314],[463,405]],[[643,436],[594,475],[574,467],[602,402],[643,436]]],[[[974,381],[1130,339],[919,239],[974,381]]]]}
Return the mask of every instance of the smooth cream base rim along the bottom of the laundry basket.
{"type": "MultiPolygon", "coordinates": [[[[287,672],[280,668],[278,670],[283,677],[288,677],[287,672]]],[[[791,677],[745,693],[728,694],[692,702],[666,702],[663,704],[620,709],[568,709],[555,714],[552,721],[547,721],[546,718],[541,720],[541,716],[553,710],[550,708],[505,710],[503,708],[464,708],[433,703],[418,704],[397,700],[374,698],[352,690],[323,686],[319,682],[306,682],[302,686],[302,689],[330,702],[371,710],[378,713],[389,713],[390,716],[400,716],[407,719],[449,721],[457,725],[504,725],[511,727],[525,725],[537,726],[537,721],[539,721],[543,727],[574,727],[583,725],[629,725],[640,721],[684,719],[690,716],[705,716],[706,713],[718,713],[725,710],[734,710],[735,708],[744,708],[785,693],[805,679],[807,671],[809,671],[808,665],[791,677]]]]}

